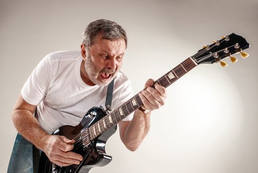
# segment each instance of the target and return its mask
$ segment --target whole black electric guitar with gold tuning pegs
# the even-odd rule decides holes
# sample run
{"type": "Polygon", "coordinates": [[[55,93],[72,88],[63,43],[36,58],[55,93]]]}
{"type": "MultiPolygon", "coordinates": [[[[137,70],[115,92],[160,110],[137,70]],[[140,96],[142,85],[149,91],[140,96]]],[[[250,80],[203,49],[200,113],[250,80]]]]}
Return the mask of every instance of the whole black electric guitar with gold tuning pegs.
{"type": "MultiPolygon", "coordinates": [[[[163,87],[169,87],[199,64],[220,62],[224,67],[227,64],[221,59],[226,57],[230,57],[230,60],[235,63],[237,59],[232,54],[240,52],[241,56],[246,58],[248,54],[242,50],[249,47],[250,44],[243,37],[234,33],[222,37],[221,40],[204,46],[196,54],[188,57],[155,81],[153,86],[160,84],[163,87]]],[[[116,125],[120,121],[142,105],[139,95],[136,94],[112,112],[107,112],[102,107],[93,107],[88,110],[79,125],[58,128],[52,134],[74,139],[76,142],[72,151],[81,154],[84,159],[80,165],[62,167],[51,163],[42,152],[39,173],[88,173],[93,167],[107,165],[112,160],[112,157],[105,152],[107,139],[115,133],[116,125]]]]}

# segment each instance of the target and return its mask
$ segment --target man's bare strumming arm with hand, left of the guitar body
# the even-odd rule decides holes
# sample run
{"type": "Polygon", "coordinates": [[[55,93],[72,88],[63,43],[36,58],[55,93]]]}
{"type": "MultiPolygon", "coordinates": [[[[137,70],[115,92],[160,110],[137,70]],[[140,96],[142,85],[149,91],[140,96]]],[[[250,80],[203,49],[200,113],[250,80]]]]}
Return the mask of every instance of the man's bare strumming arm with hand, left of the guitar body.
{"type": "Polygon", "coordinates": [[[15,128],[22,136],[41,149],[51,162],[60,166],[78,165],[83,158],[81,155],[71,152],[75,141],[64,136],[46,133],[33,115],[36,107],[37,105],[27,103],[19,95],[12,111],[15,128]]]}

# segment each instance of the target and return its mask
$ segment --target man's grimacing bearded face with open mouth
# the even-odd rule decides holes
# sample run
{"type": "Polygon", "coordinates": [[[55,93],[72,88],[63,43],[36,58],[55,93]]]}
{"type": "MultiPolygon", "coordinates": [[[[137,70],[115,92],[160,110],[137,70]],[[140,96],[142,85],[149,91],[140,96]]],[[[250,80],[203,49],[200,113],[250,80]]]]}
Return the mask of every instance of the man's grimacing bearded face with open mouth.
{"type": "Polygon", "coordinates": [[[126,50],[124,39],[110,41],[96,37],[88,52],[82,47],[88,85],[108,85],[120,70],[126,50]],[[83,52],[85,50],[85,54],[83,52]]]}

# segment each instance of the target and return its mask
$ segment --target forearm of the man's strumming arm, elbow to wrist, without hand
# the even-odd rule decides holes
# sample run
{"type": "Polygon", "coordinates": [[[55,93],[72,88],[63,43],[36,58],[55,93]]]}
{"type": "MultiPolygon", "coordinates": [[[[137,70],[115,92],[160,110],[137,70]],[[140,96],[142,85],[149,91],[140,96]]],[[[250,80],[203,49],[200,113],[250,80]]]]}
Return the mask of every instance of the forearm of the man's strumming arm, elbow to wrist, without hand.
{"type": "Polygon", "coordinates": [[[43,141],[49,134],[44,131],[31,111],[16,109],[12,112],[12,121],[17,131],[39,149],[43,149],[43,141]]]}

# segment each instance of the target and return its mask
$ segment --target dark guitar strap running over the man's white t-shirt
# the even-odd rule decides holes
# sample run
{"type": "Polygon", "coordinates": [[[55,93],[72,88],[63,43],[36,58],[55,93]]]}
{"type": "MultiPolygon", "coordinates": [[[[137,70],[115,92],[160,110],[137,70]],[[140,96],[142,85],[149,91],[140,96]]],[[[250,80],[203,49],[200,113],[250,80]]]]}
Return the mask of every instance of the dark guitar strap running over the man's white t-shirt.
{"type": "MultiPolygon", "coordinates": [[[[114,89],[114,80],[115,79],[113,79],[111,81],[111,83],[109,83],[108,89],[107,89],[107,96],[106,96],[105,106],[106,106],[106,109],[108,111],[111,111],[113,89],[114,89]]],[[[35,110],[34,115],[37,118],[37,116],[38,116],[37,115],[37,108],[35,110]]],[[[32,146],[32,151],[33,151],[33,172],[34,173],[38,173],[41,153],[40,153],[40,150],[37,147],[35,147],[34,145],[32,146]]]]}

